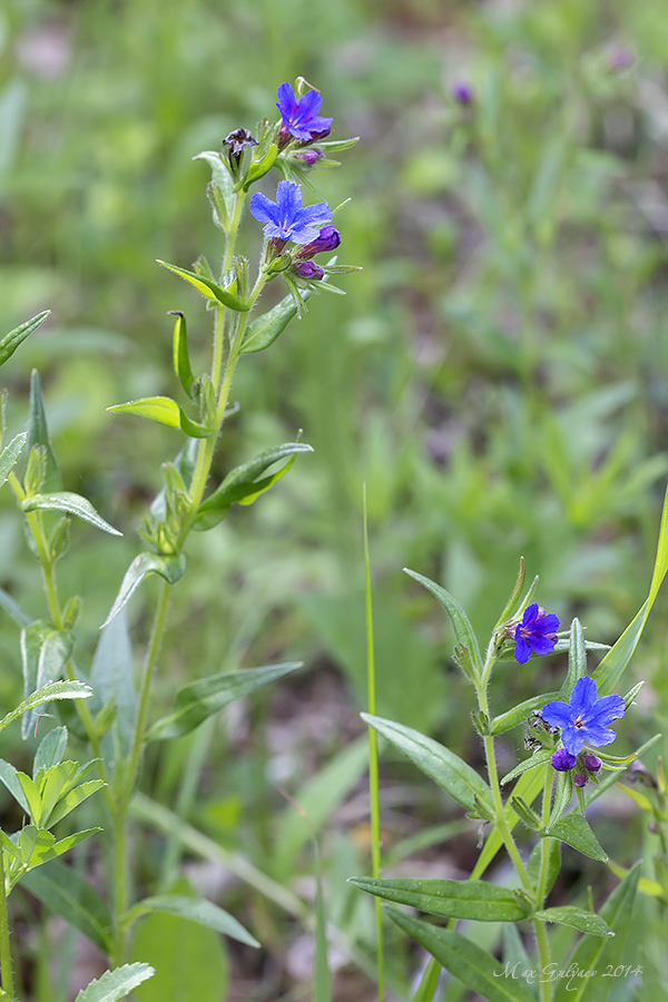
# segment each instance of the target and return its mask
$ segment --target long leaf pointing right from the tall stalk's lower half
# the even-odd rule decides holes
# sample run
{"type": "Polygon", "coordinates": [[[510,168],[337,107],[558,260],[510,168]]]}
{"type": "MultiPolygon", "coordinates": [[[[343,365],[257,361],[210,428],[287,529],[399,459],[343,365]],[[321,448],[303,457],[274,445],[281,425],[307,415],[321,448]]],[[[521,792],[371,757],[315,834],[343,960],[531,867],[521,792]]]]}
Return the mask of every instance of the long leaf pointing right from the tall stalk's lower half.
{"type": "Polygon", "coordinates": [[[224,706],[301,667],[301,661],[295,661],[199,678],[178,691],[174,709],[154,724],[148,733],[148,738],[149,740],[165,740],[189,734],[212,714],[222,710],[224,706]]]}

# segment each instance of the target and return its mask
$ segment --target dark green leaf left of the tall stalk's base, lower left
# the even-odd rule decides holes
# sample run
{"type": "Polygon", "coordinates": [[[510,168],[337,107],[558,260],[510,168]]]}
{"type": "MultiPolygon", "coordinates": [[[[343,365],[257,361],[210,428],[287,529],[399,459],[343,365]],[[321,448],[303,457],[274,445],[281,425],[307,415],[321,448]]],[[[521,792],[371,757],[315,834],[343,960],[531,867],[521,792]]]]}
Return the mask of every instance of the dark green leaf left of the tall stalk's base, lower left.
{"type": "Polygon", "coordinates": [[[52,862],[21,878],[56,915],[88,936],[104,953],[111,949],[111,913],[96,891],[71,866],[52,862]]]}

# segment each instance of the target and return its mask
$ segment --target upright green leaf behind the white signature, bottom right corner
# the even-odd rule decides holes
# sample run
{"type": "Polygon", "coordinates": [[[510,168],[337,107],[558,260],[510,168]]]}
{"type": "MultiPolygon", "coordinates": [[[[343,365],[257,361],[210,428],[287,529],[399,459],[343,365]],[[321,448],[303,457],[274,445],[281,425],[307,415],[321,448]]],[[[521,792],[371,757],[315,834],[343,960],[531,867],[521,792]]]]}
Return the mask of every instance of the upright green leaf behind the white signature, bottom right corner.
{"type": "Polygon", "coordinates": [[[603,918],[615,937],[580,940],[564,966],[577,965],[579,971],[596,971],[597,978],[577,978],[560,980],[557,985],[556,1002],[607,1002],[610,994],[610,978],[602,974],[610,964],[615,970],[623,956],[623,946],[631,924],[638,921],[633,907],[642,863],[638,862],[629,870],[626,877],[610,894],[599,915],[603,918]]]}

